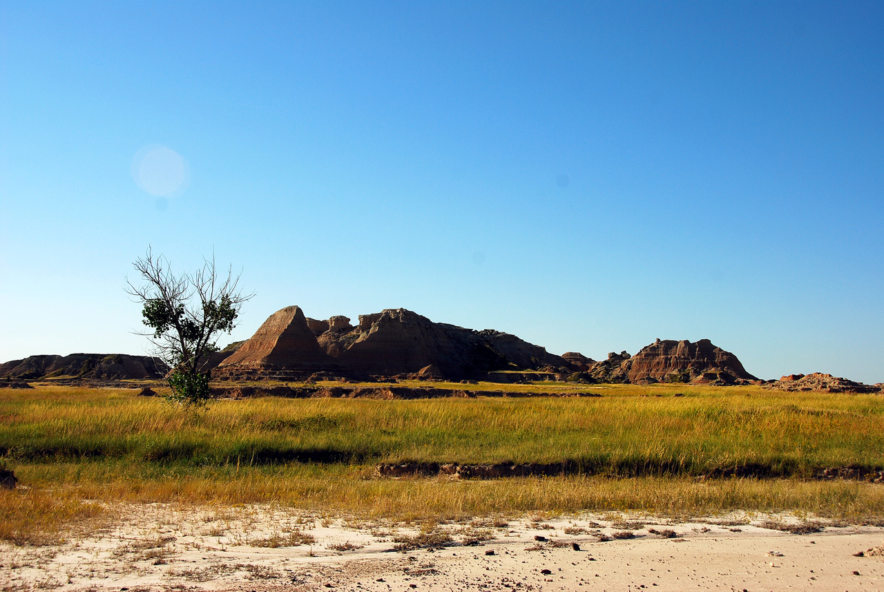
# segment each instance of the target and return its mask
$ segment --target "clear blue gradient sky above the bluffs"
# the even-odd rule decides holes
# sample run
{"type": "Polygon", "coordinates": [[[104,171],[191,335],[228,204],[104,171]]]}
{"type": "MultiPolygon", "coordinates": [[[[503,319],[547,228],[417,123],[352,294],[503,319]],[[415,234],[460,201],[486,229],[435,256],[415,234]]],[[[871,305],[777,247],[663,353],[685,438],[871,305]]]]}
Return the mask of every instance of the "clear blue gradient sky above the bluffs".
{"type": "Polygon", "coordinates": [[[0,360],[143,353],[152,245],[242,269],[230,339],[407,307],[884,381],[884,4],[240,4],[0,4],[0,360]]]}

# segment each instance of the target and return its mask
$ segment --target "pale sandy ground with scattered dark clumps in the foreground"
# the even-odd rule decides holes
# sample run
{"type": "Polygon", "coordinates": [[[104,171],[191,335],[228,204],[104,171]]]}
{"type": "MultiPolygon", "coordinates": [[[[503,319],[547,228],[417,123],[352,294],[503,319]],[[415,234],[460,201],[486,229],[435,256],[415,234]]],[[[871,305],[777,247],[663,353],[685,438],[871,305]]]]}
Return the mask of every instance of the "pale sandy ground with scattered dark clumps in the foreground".
{"type": "Polygon", "coordinates": [[[271,506],[114,511],[117,526],[57,546],[0,544],[0,588],[884,590],[884,557],[854,556],[880,546],[884,527],[795,535],[770,522],[799,523],[790,516],[536,515],[434,526],[271,506]],[[421,543],[431,546],[408,549],[421,543]]]}

